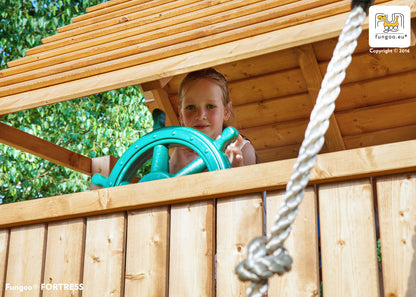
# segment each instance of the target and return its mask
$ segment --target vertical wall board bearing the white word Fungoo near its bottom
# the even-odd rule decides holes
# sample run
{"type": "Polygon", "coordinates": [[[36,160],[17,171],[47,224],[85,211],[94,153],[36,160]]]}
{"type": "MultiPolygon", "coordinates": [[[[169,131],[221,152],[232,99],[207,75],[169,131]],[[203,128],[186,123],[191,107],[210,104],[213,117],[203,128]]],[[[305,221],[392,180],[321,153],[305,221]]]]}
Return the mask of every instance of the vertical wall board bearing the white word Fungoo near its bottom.
{"type": "Polygon", "coordinates": [[[45,236],[45,224],[10,230],[5,297],[41,296],[45,236]]]}

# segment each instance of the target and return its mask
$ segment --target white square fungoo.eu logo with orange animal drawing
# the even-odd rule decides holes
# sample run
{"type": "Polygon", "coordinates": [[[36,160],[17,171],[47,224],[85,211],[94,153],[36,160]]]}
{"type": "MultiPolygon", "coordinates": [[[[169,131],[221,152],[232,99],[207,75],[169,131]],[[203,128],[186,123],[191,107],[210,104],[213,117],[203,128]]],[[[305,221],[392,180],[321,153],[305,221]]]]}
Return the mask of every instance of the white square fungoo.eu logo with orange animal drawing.
{"type": "Polygon", "coordinates": [[[410,46],[409,6],[371,6],[368,17],[371,47],[410,46]]]}

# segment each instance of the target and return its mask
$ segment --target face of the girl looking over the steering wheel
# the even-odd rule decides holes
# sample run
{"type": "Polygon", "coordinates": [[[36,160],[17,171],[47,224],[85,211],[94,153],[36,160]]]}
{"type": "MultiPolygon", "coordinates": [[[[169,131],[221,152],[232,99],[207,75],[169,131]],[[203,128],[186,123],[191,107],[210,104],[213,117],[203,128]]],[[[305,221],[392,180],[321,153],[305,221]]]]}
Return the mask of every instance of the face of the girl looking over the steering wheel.
{"type": "Polygon", "coordinates": [[[213,139],[221,133],[223,123],[231,114],[225,107],[221,88],[209,79],[199,79],[184,89],[180,120],[186,127],[197,129],[213,139]]]}

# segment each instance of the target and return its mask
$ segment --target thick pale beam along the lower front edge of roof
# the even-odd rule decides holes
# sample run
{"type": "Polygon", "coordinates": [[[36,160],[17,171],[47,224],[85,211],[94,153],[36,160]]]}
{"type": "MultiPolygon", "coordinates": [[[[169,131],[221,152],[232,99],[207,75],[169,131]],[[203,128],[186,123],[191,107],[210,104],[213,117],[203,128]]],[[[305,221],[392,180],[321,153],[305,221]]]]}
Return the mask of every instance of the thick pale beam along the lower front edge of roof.
{"type": "MultiPolygon", "coordinates": [[[[411,0],[394,0],[390,5],[410,5],[411,0]]],[[[412,14],[416,11],[412,8],[412,14]]],[[[117,71],[48,86],[39,90],[3,96],[0,114],[62,102],[112,89],[152,81],[165,76],[175,76],[196,69],[239,61],[254,56],[276,52],[302,44],[338,36],[347,13],[315,20],[278,31],[259,34],[251,38],[213,46],[156,62],[122,68],[117,71]]],[[[368,28],[368,22],[363,24],[368,28]]]]}

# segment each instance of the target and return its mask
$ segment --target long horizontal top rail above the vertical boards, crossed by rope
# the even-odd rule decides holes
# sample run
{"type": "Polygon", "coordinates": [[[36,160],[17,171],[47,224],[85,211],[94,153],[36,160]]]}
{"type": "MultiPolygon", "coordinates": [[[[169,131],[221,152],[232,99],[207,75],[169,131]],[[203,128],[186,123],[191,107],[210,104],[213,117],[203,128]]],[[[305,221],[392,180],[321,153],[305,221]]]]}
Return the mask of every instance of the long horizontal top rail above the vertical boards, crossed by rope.
{"type": "MultiPolygon", "coordinates": [[[[310,184],[416,170],[416,140],[318,156],[310,184]]],[[[284,189],[295,159],[4,204],[0,228],[284,189]],[[201,185],[204,185],[201,187],[201,185]]]]}

